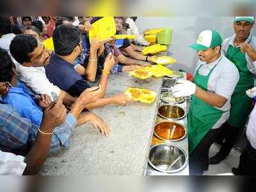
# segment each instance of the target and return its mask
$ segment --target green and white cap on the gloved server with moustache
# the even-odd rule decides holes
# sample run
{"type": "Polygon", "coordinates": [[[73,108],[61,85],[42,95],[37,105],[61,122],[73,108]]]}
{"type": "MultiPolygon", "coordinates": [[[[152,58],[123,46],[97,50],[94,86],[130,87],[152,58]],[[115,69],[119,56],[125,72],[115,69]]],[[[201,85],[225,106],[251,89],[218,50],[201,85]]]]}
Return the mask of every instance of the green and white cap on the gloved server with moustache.
{"type": "Polygon", "coordinates": [[[196,44],[189,45],[195,51],[204,51],[209,48],[221,46],[222,38],[217,31],[205,30],[198,36],[196,44]]]}

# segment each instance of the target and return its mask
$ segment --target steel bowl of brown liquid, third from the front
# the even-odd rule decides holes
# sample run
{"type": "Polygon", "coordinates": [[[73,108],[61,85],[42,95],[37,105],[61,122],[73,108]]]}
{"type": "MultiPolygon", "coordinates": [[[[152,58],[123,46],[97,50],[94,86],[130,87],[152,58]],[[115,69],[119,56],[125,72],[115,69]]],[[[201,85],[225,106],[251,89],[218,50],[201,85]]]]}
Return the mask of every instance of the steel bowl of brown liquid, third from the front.
{"type": "Polygon", "coordinates": [[[184,109],[172,104],[164,104],[159,106],[158,114],[159,116],[168,120],[179,120],[186,116],[184,109]]]}

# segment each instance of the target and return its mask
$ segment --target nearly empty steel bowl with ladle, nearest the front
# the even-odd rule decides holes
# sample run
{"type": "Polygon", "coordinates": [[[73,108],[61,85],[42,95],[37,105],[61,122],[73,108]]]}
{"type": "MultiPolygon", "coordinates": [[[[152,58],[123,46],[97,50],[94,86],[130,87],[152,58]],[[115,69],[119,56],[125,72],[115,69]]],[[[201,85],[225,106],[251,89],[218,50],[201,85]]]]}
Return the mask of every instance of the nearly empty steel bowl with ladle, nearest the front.
{"type": "Polygon", "coordinates": [[[187,166],[188,156],[181,148],[163,143],[150,148],[148,163],[159,172],[177,173],[187,166]],[[179,161],[173,164],[175,159],[179,157],[179,161]],[[168,169],[171,164],[173,164],[173,166],[168,169]]]}

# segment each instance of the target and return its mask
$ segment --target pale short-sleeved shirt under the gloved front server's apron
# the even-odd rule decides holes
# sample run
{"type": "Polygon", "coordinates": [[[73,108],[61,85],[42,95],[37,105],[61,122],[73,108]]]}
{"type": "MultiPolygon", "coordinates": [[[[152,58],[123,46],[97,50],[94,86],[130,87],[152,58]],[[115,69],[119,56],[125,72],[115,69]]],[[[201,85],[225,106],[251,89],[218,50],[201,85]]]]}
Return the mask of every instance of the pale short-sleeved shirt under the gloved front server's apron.
{"type": "Polygon", "coordinates": [[[221,111],[227,111],[223,113],[220,120],[218,120],[218,122],[216,122],[216,124],[212,127],[212,129],[217,129],[228,120],[230,99],[235,90],[236,84],[239,81],[239,72],[234,63],[228,60],[224,54],[221,54],[218,60],[208,64],[199,60],[196,65],[196,70],[200,67],[200,65],[202,65],[202,67],[198,73],[203,76],[207,76],[211,69],[216,65],[211,73],[211,76],[209,77],[207,90],[227,99],[227,102],[221,108],[214,107],[216,109],[220,109],[221,111]]]}

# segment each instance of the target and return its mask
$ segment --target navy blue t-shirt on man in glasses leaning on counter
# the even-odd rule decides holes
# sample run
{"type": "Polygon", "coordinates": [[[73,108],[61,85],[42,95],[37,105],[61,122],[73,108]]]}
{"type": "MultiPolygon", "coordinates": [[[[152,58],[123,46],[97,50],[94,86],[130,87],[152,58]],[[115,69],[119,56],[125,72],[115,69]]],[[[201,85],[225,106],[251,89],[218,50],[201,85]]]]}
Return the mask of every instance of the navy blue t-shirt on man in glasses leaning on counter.
{"type": "Polygon", "coordinates": [[[86,88],[90,88],[90,85],[76,72],[74,66],[56,53],[52,54],[49,65],[45,67],[45,74],[51,83],[72,96],[79,96],[86,88]]]}

